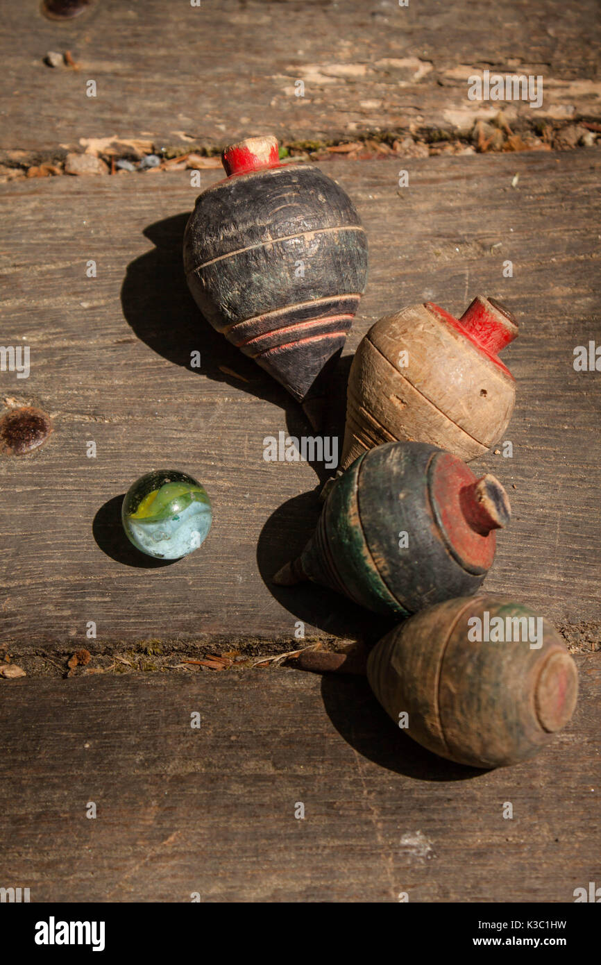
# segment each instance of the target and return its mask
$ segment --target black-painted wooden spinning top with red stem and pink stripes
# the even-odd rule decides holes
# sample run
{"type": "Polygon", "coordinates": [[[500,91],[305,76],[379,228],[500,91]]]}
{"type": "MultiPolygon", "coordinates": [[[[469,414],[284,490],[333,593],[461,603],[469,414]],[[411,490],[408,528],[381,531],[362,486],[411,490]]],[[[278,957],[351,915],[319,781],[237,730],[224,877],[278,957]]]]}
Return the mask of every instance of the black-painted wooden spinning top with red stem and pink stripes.
{"type": "Polygon", "coordinates": [[[186,226],[188,286],[211,325],[319,427],[366,286],[366,234],[340,185],[313,165],[280,164],[274,137],[234,144],[222,162],[228,178],[197,198],[186,226]]]}

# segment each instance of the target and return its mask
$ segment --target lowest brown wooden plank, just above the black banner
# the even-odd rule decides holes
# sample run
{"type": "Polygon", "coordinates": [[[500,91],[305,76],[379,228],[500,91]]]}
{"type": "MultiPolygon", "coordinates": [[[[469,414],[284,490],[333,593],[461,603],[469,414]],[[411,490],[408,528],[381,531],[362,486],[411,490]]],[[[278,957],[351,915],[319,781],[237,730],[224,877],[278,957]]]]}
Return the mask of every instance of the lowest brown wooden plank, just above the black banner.
{"type": "Polygon", "coordinates": [[[365,678],[5,683],[0,880],[36,902],[572,902],[599,881],[599,669],[577,660],[568,730],[493,772],[401,735],[365,678]]]}

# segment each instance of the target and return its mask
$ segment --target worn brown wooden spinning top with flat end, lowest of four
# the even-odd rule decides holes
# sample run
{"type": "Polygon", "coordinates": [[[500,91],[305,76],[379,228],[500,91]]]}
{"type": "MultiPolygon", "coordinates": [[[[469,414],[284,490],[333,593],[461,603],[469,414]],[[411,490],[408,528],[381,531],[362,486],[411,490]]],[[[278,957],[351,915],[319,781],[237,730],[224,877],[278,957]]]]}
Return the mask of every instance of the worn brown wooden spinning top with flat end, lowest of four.
{"type": "Polygon", "coordinates": [[[443,758],[503,767],[569,721],[576,665],[533,610],[492,596],[447,600],[391,630],[369,654],[371,689],[405,732],[443,758]]]}

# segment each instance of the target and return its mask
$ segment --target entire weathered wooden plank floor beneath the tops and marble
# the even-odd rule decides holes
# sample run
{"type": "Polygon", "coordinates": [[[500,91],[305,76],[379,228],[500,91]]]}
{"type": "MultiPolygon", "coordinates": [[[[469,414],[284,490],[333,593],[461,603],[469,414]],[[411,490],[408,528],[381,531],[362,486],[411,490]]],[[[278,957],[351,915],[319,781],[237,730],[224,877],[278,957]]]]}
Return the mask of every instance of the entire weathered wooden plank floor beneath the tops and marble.
{"type": "MultiPolygon", "coordinates": [[[[587,131],[601,120],[593,0],[225,0],[168,15],[160,0],[97,0],[64,24],[43,19],[39,0],[5,6],[0,180],[2,165],[115,142],[214,152],[264,132],[467,144],[499,106],[467,98],[485,68],[544,76],[539,112],[504,106],[516,130],[535,129],[534,115],[587,131]],[[43,64],[67,49],[79,69],[43,64]]],[[[28,674],[0,676],[0,887],[29,887],[32,901],[564,902],[601,880],[601,376],[573,367],[576,346],[601,344],[601,149],[322,169],[369,235],[330,434],[352,353],[384,313],[431,300],[459,315],[483,293],[518,317],[504,353],[518,383],[513,455],[473,464],[513,509],[485,586],[559,626],[579,667],[577,714],[531,762],[478,773],[401,736],[363,678],[160,673],[173,654],[296,648],[299,620],[303,643],[324,647],[370,641],[380,624],[334,593],[271,582],[310,535],[328,473],[263,459],[266,436],[310,430],[186,290],[190,172],[7,180],[0,341],[30,346],[31,372],[0,372],[0,416],[34,404],[53,422],[40,450],[0,455],[0,657],[28,674]],[[213,503],[204,547],[173,565],[141,558],[120,523],[124,491],[156,467],[191,473],[213,503]],[[63,679],[81,647],[91,663],[63,679]],[[163,654],[155,673],[117,676],[123,654],[144,651],[163,654]]],[[[202,187],[219,177],[203,170],[202,187]]]]}

